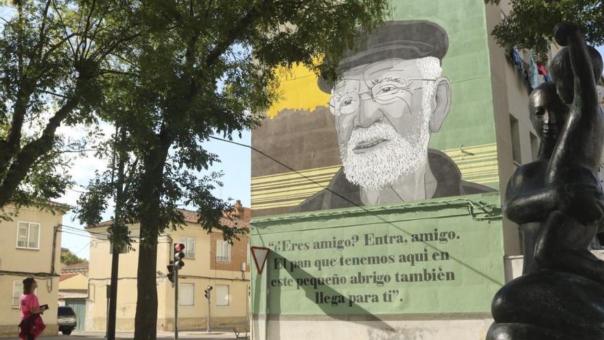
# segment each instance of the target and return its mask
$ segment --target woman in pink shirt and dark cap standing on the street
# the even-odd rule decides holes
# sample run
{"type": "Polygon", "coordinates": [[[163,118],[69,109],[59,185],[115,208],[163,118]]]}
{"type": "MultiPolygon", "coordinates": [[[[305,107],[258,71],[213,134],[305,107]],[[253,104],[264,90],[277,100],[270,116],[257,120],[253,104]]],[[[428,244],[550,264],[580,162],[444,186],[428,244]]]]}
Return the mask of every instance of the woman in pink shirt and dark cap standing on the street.
{"type": "Polygon", "coordinates": [[[38,283],[34,280],[34,277],[27,277],[23,280],[23,295],[19,299],[19,310],[21,310],[19,337],[23,340],[36,339],[46,328],[42,317],[40,317],[45,308],[40,307],[38,297],[34,293],[36,288],[38,288],[38,283]]]}

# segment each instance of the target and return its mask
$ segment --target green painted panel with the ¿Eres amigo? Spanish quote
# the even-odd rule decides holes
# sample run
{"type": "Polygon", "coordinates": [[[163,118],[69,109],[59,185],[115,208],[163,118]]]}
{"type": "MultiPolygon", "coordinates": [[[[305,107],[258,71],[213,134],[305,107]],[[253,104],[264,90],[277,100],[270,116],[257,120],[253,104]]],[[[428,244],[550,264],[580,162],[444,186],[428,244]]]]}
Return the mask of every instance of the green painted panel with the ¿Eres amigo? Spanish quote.
{"type": "Polygon", "coordinates": [[[491,193],[257,218],[251,245],[271,251],[252,313],[266,275],[269,314],[487,313],[504,284],[500,213],[491,193]]]}

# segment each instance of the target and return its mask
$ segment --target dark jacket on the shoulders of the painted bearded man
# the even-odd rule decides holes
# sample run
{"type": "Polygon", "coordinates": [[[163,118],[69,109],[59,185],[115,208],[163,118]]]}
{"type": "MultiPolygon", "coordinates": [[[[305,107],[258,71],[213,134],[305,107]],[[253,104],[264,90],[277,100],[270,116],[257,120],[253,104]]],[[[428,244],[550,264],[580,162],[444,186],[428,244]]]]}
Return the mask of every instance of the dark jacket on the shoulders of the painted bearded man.
{"type": "MultiPolygon", "coordinates": [[[[428,149],[428,166],[437,180],[437,190],[430,197],[432,199],[497,191],[485,185],[462,181],[461,172],[455,162],[439,150],[428,149]]],[[[360,187],[350,183],[344,171],[340,169],[326,189],[310,196],[291,212],[313,212],[364,205],[360,196],[360,187]]]]}

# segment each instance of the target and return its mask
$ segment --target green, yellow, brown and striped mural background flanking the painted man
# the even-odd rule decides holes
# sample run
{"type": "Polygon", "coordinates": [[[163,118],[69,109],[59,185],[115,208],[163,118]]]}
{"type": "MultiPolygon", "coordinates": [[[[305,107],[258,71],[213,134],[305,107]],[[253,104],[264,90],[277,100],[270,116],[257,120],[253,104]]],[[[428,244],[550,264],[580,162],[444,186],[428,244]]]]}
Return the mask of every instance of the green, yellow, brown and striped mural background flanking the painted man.
{"type": "MultiPolygon", "coordinates": [[[[393,0],[392,6],[386,21],[431,21],[448,34],[442,68],[450,81],[451,109],[440,131],[430,135],[429,148],[450,157],[463,181],[499,190],[484,1],[393,0]]],[[[318,90],[314,74],[299,68],[286,74],[283,100],[252,133],[252,145],[272,157],[252,154],[254,216],[291,212],[329,185],[342,163],[329,96],[318,90]]]]}

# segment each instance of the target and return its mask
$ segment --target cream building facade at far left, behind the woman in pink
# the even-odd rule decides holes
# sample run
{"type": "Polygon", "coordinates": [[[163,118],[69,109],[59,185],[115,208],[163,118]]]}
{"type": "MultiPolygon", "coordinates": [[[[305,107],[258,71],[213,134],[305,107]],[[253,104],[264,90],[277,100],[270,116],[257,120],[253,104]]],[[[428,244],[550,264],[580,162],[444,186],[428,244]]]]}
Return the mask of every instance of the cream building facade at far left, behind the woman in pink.
{"type": "MultiPolygon", "coordinates": [[[[58,334],[57,295],[61,235],[58,227],[62,215],[69,209],[57,205],[60,212],[52,214],[32,207],[21,207],[12,220],[0,220],[3,237],[0,238],[0,337],[17,338],[21,321],[19,298],[23,294],[23,280],[34,277],[38,282],[36,295],[40,304],[48,304],[43,315],[44,335],[58,334]]],[[[5,212],[14,209],[5,207],[5,212]]]]}

